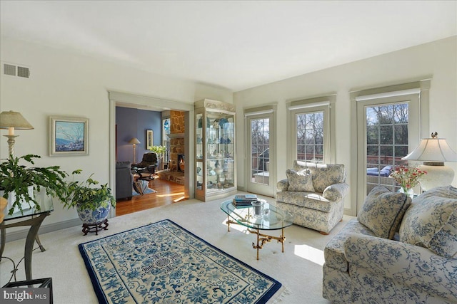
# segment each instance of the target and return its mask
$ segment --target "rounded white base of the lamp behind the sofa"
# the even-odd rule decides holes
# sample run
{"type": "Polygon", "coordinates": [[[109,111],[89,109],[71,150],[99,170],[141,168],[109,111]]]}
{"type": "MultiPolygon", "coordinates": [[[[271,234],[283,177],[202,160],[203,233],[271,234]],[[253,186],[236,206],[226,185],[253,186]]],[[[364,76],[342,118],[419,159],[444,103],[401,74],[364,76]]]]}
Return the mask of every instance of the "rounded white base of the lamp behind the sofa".
{"type": "Polygon", "coordinates": [[[423,162],[418,169],[427,172],[419,178],[423,191],[448,186],[454,179],[454,170],[446,167],[443,162],[423,162]]]}

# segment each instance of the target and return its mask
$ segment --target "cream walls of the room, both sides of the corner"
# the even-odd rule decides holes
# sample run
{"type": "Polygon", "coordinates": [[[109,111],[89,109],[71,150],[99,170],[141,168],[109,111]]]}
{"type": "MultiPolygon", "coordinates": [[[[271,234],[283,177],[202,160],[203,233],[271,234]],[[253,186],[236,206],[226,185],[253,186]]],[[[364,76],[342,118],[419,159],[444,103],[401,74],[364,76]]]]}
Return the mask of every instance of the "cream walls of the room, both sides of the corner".
{"type": "MultiPolygon", "coordinates": [[[[403,51],[388,53],[363,61],[320,70],[276,83],[232,93],[184,80],[151,75],[141,70],[111,62],[94,60],[84,54],[1,38],[0,60],[31,68],[31,78],[0,76],[0,110],[15,110],[35,127],[16,131],[16,156],[39,154],[39,166],[58,164],[67,172],[80,168],[89,175],[95,172],[100,182],[109,182],[109,100],[107,90],[153,96],[166,100],[193,103],[211,98],[236,104],[237,152],[243,155],[243,108],[278,103],[276,172],[285,178],[286,106],[287,100],[337,93],[336,162],[346,164],[351,174],[351,110],[349,92],[361,88],[405,83],[432,76],[430,130],[446,137],[457,150],[457,38],[427,43],[403,51]],[[89,156],[48,157],[49,115],[89,118],[89,156]]],[[[5,130],[1,131],[6,134],[5,130]]],[[[0,138],[0,158],[6,158],[6,138],[0,138]]],[[[238,157],[238,185],[244,184],[242,157],[238,157]]],[[[456,163],[449,163],[457,171],[456,163]]],[[[457,186],[457,178],[453,185],[457,186]]],[[[353,185],[351,185],[353,187],[353,185]]],[[[346,207],[351,208],[350,199],[346,207]]],[[[44,224],[76,219],[76,211],[55,211],[44,224]]]]}

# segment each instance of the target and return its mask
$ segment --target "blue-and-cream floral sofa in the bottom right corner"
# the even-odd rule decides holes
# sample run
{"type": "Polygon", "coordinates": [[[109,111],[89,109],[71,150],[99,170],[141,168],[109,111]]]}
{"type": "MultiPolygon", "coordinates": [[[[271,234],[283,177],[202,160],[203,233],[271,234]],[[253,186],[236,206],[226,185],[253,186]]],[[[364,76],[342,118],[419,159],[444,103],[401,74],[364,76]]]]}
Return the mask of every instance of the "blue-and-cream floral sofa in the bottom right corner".
{"type": "Polygon", "coordinates": [[[411,202],[375,187],[324,257],[323,298],[332,303],[457,303],[457,188],[411,202]]]}

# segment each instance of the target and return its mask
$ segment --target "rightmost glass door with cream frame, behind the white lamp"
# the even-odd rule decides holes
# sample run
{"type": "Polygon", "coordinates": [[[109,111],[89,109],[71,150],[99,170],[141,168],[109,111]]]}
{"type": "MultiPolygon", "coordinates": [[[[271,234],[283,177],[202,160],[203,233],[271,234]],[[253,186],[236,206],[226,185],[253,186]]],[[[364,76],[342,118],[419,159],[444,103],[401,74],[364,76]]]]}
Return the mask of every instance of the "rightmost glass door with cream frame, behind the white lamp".
{"type": "MultiPolygon", "coordinates": [[[[391,85],[351,93],[351,200],[347,214],[356,215],[366,195],[378,184],[392,191],[398,185],[389,177],[421,137],[428,137],[430,80],[391,85]],[[353,172],[353,173],[352,173],[353,172]]],[[[409,164],[411,165],[411,164],[409,164]]]]}

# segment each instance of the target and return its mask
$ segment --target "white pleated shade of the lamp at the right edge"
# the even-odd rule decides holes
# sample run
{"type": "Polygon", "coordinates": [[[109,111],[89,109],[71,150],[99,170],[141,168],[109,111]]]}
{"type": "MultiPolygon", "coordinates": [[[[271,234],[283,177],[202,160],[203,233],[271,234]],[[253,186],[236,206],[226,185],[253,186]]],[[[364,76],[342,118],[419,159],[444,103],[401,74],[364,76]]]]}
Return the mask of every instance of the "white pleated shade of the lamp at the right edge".
{"type": "Polygon", "coordinates": [[[449,147],[445,138],[424,138],[413,152],[402,159],[423,162],[457,162],[457,153],[449,147]]]}

